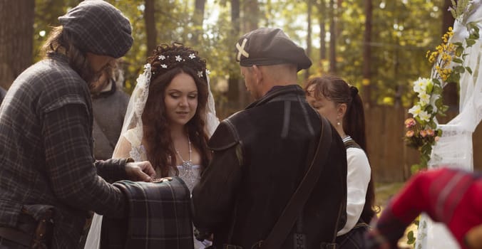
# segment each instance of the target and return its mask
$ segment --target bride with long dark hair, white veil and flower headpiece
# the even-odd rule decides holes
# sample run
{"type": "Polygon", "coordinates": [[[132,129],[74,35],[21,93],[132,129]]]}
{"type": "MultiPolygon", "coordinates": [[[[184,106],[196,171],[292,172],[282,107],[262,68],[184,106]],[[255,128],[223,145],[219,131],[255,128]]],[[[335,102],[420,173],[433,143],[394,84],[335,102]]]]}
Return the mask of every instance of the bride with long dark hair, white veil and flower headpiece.
{"type": "MultiPolygon", "coordinates": [[[[207,140],[219,123],[206,62],[180,43],[158,46],[147,61],[113,158],[148,160],[158,177],[180,176],[192,191],[210,160],[207,140]]],[[[101,219],[94,216],[85,248],[99,247],[101,219]]],[[[205,248],[210,241],[194,245],[205,248]]]]}

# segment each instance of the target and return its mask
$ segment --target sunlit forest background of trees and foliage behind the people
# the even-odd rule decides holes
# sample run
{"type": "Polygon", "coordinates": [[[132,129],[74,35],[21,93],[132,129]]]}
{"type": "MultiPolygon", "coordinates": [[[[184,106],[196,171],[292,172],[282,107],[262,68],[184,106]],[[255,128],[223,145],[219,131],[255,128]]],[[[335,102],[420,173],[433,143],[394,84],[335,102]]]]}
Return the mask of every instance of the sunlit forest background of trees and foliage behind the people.
{"type": "MultiPolygon", "coordinates": [[[[252,101],[235,61],[235,43],[258,27],[282,28],[313,61],[299,84],[327,73],[356,85],[365,102],[369,155],[378,181],[404,181],[418,161],[406,149],[404,119],[428,78],[426,52],[453,25],[450,0],[107,0],[133,25],[133,48],[122,58],[125,91],[131,92],[145,59],[160,43],[178,41],[200,52],[210,70],[220,119],[252,101]]],[[[40,60],[41,44],[58,16],[79,0],[0,0],[0,87],[8,89],[40,60]]],[[[443,90],[448,116],[458,110],[458,89],[443,90]]],[[[477,136],[476,132],[474,136],[477,136]]],[[[476,139],[476,142],[482,139],[476,139]]],[[[481,144],[482,146],[482,144],[481,144]]],[[[477,144],[474,144],[474,152],[477,144]]],[[[475,155],[474,155],[475,157],[475,155]]],[[[479,160],[478,157],[474,159],[479,160]]],[[[482,161],[482,158],[481,158],[482,161]]]]}

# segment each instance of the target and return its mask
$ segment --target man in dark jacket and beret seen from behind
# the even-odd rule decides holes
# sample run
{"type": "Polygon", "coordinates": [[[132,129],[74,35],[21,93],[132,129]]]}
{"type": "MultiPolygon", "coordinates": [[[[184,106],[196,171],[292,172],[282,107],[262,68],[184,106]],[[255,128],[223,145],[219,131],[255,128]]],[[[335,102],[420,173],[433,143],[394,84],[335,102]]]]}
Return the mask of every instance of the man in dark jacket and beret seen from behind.
{"type": "Polygon", "coordinates": [[[236,48],[256,101],[212,135],[212,161],[193,190],[194,224],[214,233],[216,248],[324,248],[345,223],[347,160],[297,85],[312,63],[279,28],[247,33],[236,48]],[[302,181],[308,170],[314,178],[302,181]]]}

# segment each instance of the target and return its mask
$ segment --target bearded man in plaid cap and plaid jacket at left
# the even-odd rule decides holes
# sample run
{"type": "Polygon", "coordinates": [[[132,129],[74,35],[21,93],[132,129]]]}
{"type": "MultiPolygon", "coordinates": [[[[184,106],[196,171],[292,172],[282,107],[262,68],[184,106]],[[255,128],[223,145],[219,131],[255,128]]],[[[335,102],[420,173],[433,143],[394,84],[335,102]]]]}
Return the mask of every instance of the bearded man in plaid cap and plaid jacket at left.
{"type": "Polygon", "coordinates": [[[88,0],[58,19],[0,107],[0,248],[78,248],[88,211],[125,216],[107,181],[155,175],[147,161],[93,159],[89,83],[132,46],[128,18],[88,0]]]}

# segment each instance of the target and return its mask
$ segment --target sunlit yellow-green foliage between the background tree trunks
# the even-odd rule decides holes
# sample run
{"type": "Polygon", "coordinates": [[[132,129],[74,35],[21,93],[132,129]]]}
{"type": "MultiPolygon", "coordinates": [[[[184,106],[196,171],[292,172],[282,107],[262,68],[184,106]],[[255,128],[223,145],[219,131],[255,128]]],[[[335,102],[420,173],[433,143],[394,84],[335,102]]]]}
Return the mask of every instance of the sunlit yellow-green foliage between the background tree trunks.
{"type": "MultiPolygon", "coordinates": [[[[50,26],[57,26],[57,17],[80,0],[35,0],[34,51],[36,54],[50,26]],[[41,36],[41,33],[45,33],[41,36]]],[[[126,90],[130,92],[138,74],[142,71],[147,51],[143,0],[107,0],[123,11],[133,25],[135,42],[124,56],[121,66],[125,70],[126,90]]],[[[459,0],[461,2],[461,0],[459,0]]],[[[241,0],[241,5],[246,1],[241,0]]],[[[328,0],[312,1],[312,74],[327,72],[327,60],[319,55],[319,22],[325,20],[329,31],[328,15],[334,12],[336,26],[337,75],[346,78],[361,89],[364,46],[364,1],[344,0],[334,10],[328,9],[328,0]],[[319,9],[319,6],[324,6],[319,9]]],[[[431,64],[424,59],[425,52],[436,46],[441,35],[441,16],[445,11],[443,0],[387,1],[373,0],[371,37],[371,86],[372,98],[379,104],[401,102],[408,107],[414,97],[410,83],[419,76],[428,77],[431,64]],[[389,101],[391,100],[391,101],[389,101]]],[[[306,46],[307,1],[287,0],[258,1],[259,26],[280,27],[296,42],[306,46]]],[[[179,41],[200,51],[210,68],[211,83],[217,102],[222,97],[221,86],[228,75],[239,76],[235,62],[235,42],[240,33],[234,33],[230,16],[230,1],[206,1],[204,24],[193,22],[194,0],[155,1],[155,26],[157,43],[179,41]],[[200,41],[193,35],[201,32],[200,41]],[[217,88],[217,87],[220,88],[217,88]]],[[[241,18],[248,16],[241,11],[241,18]]],[[[244,26],[241,23],[243,30],[244,26]]],[[[246,32],[243,30],[242,33],[246,32]]],[[[473,34],[473,40],[476,34],[473,34]]],[[[327,40],[328,41],[328,40],[327,40]]],[[[468,41],[471,43],[471,41],[468,41]]],[[[328,46],[327,42],[327,46],[328,46]]],[[[327,47],[328,49],[328,47],[327,47]]],[[[462,54],[462,53],[461,53],[462,54]]],[[[36,56],[36,60],[39,60],[36,56]]],[[[457,68],[458,71],[470,70],[457,68]]],[[[300,77],[301,78],[301,77],[300,77]]],[[[454,79],[457,80],[457,79],[454,79]]],[[[301,82],[300,82],[301,83],[301,82]]]]}

